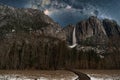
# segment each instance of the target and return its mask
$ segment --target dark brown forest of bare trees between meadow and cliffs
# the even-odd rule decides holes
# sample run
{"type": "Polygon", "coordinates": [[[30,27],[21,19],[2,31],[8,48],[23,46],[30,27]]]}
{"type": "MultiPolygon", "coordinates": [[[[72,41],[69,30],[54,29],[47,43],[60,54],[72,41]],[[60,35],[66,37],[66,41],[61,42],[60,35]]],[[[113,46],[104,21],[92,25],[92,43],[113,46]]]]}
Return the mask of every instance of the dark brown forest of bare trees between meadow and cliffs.
{"type": "Polygon", "coordinates": [[[70,49],[65,41],[57,38],[17,33],[0,40],[0,69],[120,69],[119,40],[109,40],[110,51],[100,58],[93,50],[70,49]]]}

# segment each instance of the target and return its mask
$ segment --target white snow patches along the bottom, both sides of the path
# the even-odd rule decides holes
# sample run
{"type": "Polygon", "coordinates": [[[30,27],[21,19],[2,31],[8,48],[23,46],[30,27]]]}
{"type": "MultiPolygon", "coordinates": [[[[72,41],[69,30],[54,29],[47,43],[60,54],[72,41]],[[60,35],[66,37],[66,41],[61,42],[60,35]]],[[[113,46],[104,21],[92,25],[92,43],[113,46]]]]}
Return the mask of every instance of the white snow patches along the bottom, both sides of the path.
{"type": "MultiPolygon", "coordinates": [[[[39,74],[39,73],[36,73],[39,74]]],[[[40,75],[29,75],[24,74],[0,74],[0,80],[75,80],[77,75],[71,75],[71,73],[61,74],[60,72],[52,75],[46,73],[41,73],[40,75]],[[58,74],[58,75],[56,75],[58,74]],[[47,76],[44,76],[47,75],[47,76]]],[[[91,80],[120,80],[120,75],[118,74],[105,74],[105,73],[87,73],[91,80]]]]}

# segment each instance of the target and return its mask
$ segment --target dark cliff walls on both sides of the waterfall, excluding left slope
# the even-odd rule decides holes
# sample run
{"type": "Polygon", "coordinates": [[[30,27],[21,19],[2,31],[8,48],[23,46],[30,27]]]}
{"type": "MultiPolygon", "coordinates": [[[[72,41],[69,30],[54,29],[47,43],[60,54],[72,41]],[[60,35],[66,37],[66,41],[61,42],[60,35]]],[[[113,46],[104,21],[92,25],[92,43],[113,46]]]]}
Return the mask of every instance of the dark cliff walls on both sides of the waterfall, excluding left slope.
{"type": "MultiPolygon", "coordinates": [[[[67,41],[71,43],[74,26],[67,26],[64,30],[67,41]],[[71,39],[71,40],[70,40],[71,39]]],[[[120,36],[120,27],[112,20],[99,20],[90,17],[76,24],[76,38],[78,44],[104,44],[111,36],[120,36]]]]}

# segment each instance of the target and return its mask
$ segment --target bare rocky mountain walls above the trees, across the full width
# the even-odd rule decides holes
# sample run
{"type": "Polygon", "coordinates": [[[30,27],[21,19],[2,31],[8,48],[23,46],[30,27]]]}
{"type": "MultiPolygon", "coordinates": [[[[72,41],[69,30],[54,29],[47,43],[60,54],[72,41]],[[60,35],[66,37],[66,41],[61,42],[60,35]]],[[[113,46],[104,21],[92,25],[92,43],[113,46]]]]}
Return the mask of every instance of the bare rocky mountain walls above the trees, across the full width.
{"type": "Polygon", "coordinates": [[[76,25],[68,25],[62,29],[40,10],[0,5],[0,36],[11,36],[11,33],[19,32],[55,37],[65,40],[69,45],[73,45],[74,42],[104,44],[110,37],[120,36],[120,27],[115,21],[99,20],[92,16],[76,25]]]}

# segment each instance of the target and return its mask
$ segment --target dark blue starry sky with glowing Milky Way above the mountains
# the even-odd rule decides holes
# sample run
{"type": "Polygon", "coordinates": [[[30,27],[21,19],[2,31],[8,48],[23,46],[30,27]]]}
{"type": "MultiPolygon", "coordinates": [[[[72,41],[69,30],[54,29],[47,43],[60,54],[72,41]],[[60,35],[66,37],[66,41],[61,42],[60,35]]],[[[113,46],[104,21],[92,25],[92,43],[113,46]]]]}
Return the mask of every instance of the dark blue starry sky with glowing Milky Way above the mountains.
{"type": "Polygon", "coordinates": [[[75,24],[90,16],[120,23],[120,0],[0,0],[0,3],[42,10],[62,26],[75,24]]]}

